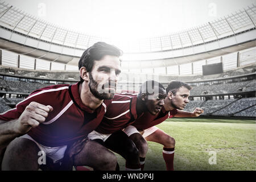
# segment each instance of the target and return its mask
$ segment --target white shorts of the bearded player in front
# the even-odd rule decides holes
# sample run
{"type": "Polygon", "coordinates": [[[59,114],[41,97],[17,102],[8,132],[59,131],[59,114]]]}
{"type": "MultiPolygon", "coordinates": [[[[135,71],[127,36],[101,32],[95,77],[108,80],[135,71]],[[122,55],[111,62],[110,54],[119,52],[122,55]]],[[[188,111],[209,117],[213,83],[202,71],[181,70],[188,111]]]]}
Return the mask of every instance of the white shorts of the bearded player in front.
{"type": "Polygon", "coordinates": [[[53,160],[53,163],[59,162],[64,157],[65,151],[67,149],[67,145],[60,147],[47,147],[42,144],[36,142],[30,135],[26,134],[19,138],[27,138],[36,143],[36,145],[40,148],[41,151],[44,151],[46,155],[53,160]]]}

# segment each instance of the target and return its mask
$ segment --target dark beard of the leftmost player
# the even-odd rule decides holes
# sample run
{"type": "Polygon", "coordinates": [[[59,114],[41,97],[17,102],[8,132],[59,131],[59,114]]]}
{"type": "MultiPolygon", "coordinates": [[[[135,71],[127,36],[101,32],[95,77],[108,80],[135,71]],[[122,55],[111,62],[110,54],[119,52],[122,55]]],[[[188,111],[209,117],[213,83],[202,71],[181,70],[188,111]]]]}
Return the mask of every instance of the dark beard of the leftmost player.
{"type": "MultiPolygon", "coordinates": [[[[90,81],[89,81],[89,88],[90,88],[90,92],[92,92],[92,94],[93,94],[93,96],[95,96],[96,98],[98,98],[99,100],[108,100],[108,99],[112,99],[113,97],[114,97],[114,94],[115,93],[109,93],[109,90],[108,90],[108,92],[105,92],[105,90],[104,90],[104,85],[106,85],[106,86],[109,86],[110,85],[110,83],[108,82],[108,83],[105,83],[104,85],[102,85],[100,88],[98,88],[99,86],[99,84],[98,84],[98,82],[97,81],[95,81],[94,79],[93,79],[93,76],[92,76],[92,74],[91,73],[89,73],[89,79],[90,79],[90,81]],[[98,92],[98,89],[100,89],[101,90],[101,92],[103,92],[103,93],[100,93],[100,92],[98,92]]],[[[113,85],[113,84],[112,84],[113,85]]],[[[115,84],[114,84],[115,85],[115,84]]],[[[116,85],[115,85],[115,88],[116,88],[116,85]]]]}

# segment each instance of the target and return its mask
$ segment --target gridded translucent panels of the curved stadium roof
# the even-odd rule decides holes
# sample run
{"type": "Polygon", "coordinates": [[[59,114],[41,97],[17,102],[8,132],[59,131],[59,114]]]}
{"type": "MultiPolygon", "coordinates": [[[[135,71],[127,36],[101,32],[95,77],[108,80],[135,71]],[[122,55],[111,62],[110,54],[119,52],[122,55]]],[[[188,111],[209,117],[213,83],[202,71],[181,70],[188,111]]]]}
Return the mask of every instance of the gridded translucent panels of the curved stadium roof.
{"type": "Polygon", "coordinates": [[[86,49],[95,42],[104,41],[120,47],[124,52],[166,51],[205,44],[227,36],[233,36],[255,28],[255,24],[256,6],[251,5],[229,16],[181,32],[124,41],[92,36],[84,32],[58,27],[17,10],[11,5],[0,3],[0,26],[48,43],[76,49],[86,49]]]}

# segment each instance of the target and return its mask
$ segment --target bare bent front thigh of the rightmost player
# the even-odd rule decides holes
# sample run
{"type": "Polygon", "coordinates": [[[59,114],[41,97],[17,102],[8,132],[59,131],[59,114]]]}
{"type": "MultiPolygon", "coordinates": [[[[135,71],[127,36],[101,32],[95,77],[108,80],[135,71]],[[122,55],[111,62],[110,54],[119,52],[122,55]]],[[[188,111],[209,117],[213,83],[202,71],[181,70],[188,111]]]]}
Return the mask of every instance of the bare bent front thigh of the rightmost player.
{"type": "Polygon", "coordinates": [[[160,129],[157,129],[154,133],[145,137],[145,139],[150,142],[163,144],[164,146],[174,141],[174,138],[170,137],[170,135],[168,135],[167,133],[160,129]]]}

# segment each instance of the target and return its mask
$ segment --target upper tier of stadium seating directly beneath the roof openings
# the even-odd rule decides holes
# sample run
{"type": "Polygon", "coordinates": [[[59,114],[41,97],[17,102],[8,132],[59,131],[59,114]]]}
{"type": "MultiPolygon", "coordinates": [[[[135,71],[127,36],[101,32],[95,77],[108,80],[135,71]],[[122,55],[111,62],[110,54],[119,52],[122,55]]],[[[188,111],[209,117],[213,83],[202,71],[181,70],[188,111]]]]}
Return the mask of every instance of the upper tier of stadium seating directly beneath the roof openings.
{"type": "MultiPolygon", "coordinates": [[[[73,84],[80,80],[76,71],[32,71],[0,67],[0,93],[30,93],[35,89],[51,84],[73,84]]],[[[255,95],[255,66],[239,68],[215,75],[207,76],[158,76],[151,74],[121,73],[117,84],[118,90],[139,91],[139,86],[146,80],[157,80],[165,87],[172,80],[185,81],[192,85],[191,96],[206,97],[224,94],[255,95]]]]}

